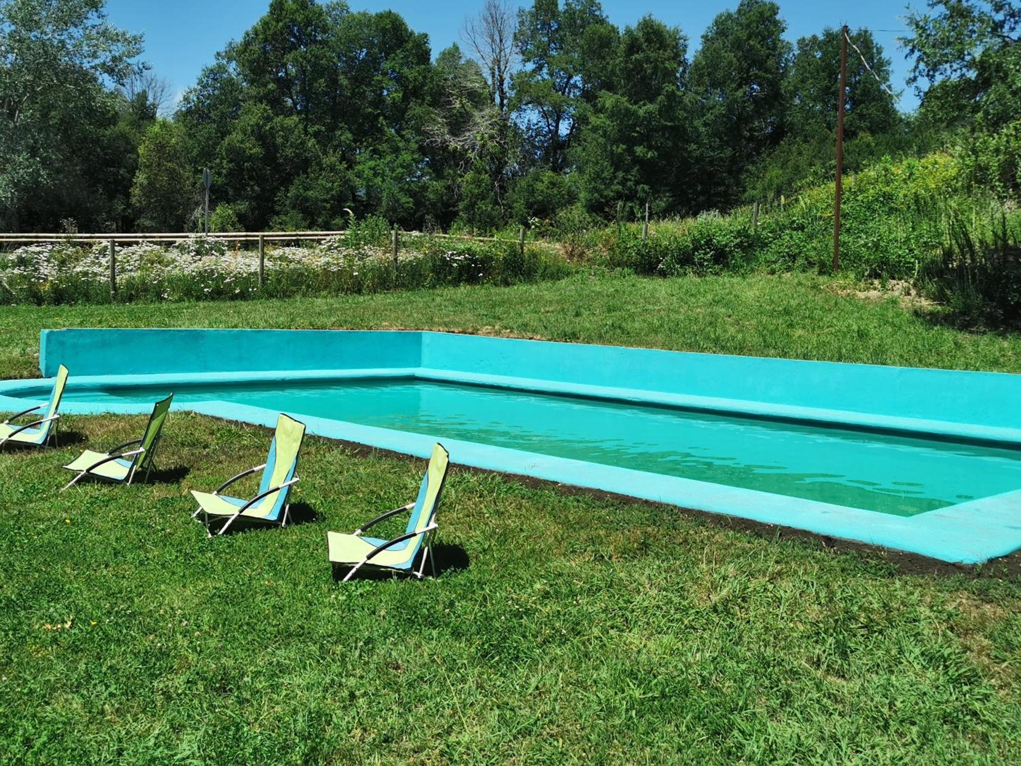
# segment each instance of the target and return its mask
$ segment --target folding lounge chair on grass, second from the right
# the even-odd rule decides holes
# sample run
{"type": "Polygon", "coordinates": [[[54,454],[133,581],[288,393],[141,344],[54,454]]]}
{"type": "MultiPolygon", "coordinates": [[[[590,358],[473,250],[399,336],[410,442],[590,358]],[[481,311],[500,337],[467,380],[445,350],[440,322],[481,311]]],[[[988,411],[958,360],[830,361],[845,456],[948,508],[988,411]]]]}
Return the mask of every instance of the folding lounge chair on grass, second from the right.
{"type": "Polygon", "coordinates": [[[281,415],[277,420],[277,432],[270,442],[270,456],[265,463],[242,471],[212,492],[197,492],[193,489],[192,495],[198,501],[198,510],[192,514],[192,518],[202,514],[201,521],[210,537],[212,532],[209,530],[209,524],[217,521],[223,524],[216,534],[226,532],[239,518],[243,522],[287,526],[291,509],[287,500],[291,485],[298,481],[295,471],[298,468],[298,451],[301,449],[301,440],[304,436],[304,423],[281,415]],[[221,494],[238,479],[256,471],[262,472],[262,480],[259,483],[258,493],[250,500],[221,494]]]}

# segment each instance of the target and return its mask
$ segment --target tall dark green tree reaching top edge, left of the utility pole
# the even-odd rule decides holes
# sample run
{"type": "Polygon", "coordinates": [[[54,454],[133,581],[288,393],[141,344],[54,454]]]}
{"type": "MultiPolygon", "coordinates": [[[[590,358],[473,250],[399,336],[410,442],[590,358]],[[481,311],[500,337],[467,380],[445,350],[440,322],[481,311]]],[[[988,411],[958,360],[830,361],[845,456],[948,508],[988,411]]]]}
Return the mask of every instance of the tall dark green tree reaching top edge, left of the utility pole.
{"type": "Polygon", "coordinates": [[[776,3],[741,0],[702,35],[689,83],[702,101],[702,174],[716,179],[704,192],[710,205],[734,202],[744,170],[783,138],[786,28],[776,3]]]}

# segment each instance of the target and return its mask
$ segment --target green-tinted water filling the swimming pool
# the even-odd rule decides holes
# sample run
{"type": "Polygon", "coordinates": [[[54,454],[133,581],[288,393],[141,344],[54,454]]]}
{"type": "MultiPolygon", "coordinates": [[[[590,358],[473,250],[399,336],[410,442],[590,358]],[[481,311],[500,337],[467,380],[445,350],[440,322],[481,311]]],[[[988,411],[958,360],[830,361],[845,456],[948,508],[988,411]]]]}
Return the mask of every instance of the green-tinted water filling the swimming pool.
{"type": "MultiPolygon", "coordinates": [[[[68,391],[154,401],[162,389],[68,391]]],[[[912,516],[1021,488],[1021,452],[417,380],[182,386],[225,400],[912,516]]],[[[452,456],[456,461],[456,456],[452,456]]]]}

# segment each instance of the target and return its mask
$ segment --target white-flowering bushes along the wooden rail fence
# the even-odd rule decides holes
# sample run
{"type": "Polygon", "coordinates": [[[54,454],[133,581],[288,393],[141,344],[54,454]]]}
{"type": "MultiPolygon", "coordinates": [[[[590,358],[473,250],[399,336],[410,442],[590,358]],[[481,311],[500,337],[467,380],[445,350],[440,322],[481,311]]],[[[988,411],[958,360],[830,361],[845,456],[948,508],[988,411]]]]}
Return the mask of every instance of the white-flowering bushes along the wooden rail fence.
{"type": "MultiPolygon", "coordinates": [[[[379,234],[379,226],[367,222],[351,239],[374,240],[379,234]]],[[[232,248],[223,240],[199,236],[169,247],[133,245],[116,251],[115,296],[109,290],[105,244],[33,245],[0,260],[0,299],[57,304],[312,296],[463,284],[512,285],[561,279],[571,272],[548,246],[530,245],[523,253],[517,243],[436,237],[405,237],[402,243],[396,272],[389,248],[364,243],[350,246],[345,238],[307,247],[270,247],[262,288],[256,253],[232,248]]]]}

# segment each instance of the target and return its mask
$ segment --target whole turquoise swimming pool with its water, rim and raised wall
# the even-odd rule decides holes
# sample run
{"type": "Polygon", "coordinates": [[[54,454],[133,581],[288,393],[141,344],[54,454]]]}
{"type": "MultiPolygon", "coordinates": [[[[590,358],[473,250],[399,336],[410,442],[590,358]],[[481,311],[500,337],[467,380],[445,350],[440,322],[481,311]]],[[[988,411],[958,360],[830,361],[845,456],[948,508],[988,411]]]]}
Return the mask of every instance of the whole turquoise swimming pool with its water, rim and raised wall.
{"type": "MultiPolygon", "coordinates": [[[[287,412],[416,454],[439,439],[455,463],[945,561],[1021,547],[1017,376],[415,332],[47,331],[41,368],[59,361],[67,412],[173,390],[210,415],[287,412]]],[[[0,382],[0,409],[44,389],[0,382]]]]}

